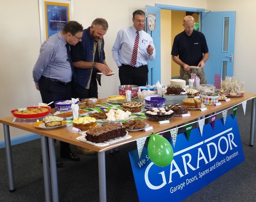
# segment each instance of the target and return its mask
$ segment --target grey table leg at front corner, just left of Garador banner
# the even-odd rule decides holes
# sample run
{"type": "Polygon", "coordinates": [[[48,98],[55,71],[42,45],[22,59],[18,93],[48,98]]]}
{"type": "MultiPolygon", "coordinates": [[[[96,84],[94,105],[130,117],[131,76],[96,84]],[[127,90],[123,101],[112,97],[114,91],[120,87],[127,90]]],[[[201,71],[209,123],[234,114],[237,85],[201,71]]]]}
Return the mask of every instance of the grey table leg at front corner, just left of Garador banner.
{"type": "Polygon", "coordinates": [[[100,202],[107,202],[105,152],[98,152],[100,202]]]}

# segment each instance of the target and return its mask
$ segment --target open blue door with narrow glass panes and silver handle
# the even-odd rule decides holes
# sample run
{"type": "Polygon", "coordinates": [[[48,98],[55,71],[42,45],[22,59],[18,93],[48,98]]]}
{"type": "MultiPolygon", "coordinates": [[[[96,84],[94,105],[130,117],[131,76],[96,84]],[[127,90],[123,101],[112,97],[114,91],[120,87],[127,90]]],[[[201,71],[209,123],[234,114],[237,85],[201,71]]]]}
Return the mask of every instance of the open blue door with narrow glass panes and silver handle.
{"type": "Polygon", "coordinates": [[[205,63],[207,84],[214,84],[214,74],[233,76],[236,11],[202,12],[202,33],[210,57],[205,63]]]}

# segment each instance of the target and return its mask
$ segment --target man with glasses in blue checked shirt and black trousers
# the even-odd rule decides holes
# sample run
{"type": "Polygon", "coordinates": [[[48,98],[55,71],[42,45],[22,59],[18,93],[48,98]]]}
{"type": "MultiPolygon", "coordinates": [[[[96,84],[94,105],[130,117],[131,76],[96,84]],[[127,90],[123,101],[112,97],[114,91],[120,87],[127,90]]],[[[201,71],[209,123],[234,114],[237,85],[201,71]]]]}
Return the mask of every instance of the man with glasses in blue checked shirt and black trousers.
{"type": "MultiPolygon", "coordinates": [[[[33,69],[36,89],[40,91],[43,103],[70,100],[72,96],[71,78],[73,65],[69,45],[81,41],[83,26],[76,21],[69,21],[62,31],[44,41],[33,69]]],[[[54,108],[54,104],[50,105],[54,108]]],[[[80,161],[70,148],[69,143],[60,141],[60,157],[71,161],[80,161]]],[[[57,162],[57,166],[62,163],[57,162]]]]}

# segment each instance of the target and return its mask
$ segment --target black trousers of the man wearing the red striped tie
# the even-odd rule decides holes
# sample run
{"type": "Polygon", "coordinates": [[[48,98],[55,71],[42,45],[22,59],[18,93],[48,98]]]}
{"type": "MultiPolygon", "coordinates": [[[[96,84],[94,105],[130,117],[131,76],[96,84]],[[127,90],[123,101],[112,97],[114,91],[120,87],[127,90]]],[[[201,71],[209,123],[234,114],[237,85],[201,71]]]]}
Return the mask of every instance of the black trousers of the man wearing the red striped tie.
{"type": "Polygon", "coordinates": [[[119,80],[121,85],[146,86],[148,81],[148,66],[132,67],[122,64],[119,67],[119,80]]]}

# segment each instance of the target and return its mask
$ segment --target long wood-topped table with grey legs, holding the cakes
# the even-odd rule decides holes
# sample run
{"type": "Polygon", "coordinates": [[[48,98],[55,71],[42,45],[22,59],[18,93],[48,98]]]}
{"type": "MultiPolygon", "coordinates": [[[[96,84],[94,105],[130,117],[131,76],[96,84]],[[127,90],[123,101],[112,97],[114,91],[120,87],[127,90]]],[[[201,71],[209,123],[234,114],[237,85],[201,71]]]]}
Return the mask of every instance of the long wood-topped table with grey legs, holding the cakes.
{"type": "MultiPolygon", "coordinates": [[[[207,110],[193,110],[191,116],[181,117],[174,116],[170,123],[159,124],[158,122],[149,121],[145,119],[143,121],[147,122],[150,126],[153,126],[153,131],[155,133],[166,131],[170,128],[175,128],[178,125],[193,121],[199,120],[202,117],[207,115],[214,114],[218,111],[225,110],[232,106],[241,104],[244,101],[252,100],[252,111],[251,111],[251,128],[250,128],[250,142],[249,145],[253,146],[253,137],[254,137],[254,121],[255,121],[255,99],[256,94],[245,93],[244,96],[240,97],[230,97],[230,101],[220,101],[221,105],[207,105],[207,110]]],[[[102,99],[101,102],[106,102],[107,99],[102,99]]],[[[10,131],[9,126],[19,128],[28,132],[36,133],[41,135],[41,145],[42,145],[42,157],[43,157],[43,172],[44,172],[44,189],[45,189],[45,201],[46,202],[58,202],[58,182],[57,182],[57,167],[56,167],[56,155],[55,155],[55,144],[54,139],[68,142],[70,144],[85,147],[92,149],[98,152],[98,163],[99,163],[99,195],[100,202],[107,201],[106,195],[106,167],[105,167],[105,152],[116,148],[123,144],[129,144],[132,141],[137,139],[148,137],[152,134],[152,131],[134,131],[129,133],[132,136],[129,139],[125,139],[121,142],[108,145],[108,146],[95,146],[88,144],[82,141],[77,140],[80,134],[69,133],[65,126],[58,129],[41,129],[36,128],[33,123],[16,123],[13,122],[13,117],[0,118],[0,123],[3,123],[4,126],[4,140],[5,140],[5,149],[6,149],[6,160],[7,160],[7,169],[8,169],[8,180],[9,180],[9,191],[15,191],[14,186],[14,177],[13,177],[13,167],[12,167],[12,151],[11,151],[11,141],[10,141],[10,131]],[[49,159],[50,156],[50,159],[49,159]],[[49,168],[50,162],[50,168],[49,168]],[[51,174],[51,175],[50,175],[51,174]]]]}

